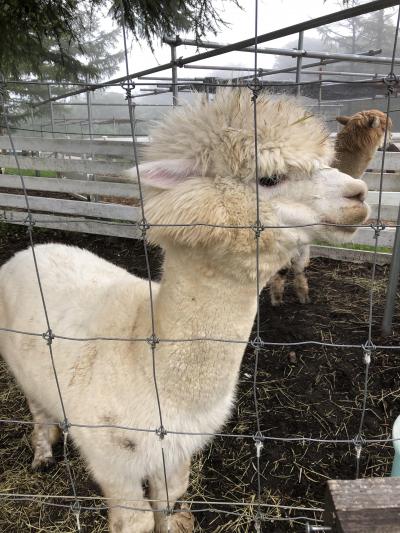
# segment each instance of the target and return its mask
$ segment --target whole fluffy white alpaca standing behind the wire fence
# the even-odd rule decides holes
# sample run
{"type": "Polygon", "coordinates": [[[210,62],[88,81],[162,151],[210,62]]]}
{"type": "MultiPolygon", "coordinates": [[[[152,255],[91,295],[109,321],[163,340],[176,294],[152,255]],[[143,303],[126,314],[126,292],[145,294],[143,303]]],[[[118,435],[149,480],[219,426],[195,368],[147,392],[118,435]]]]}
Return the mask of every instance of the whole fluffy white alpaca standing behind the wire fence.
{"type": "MultiPolygon", "coordinates": [[[[169,500],[186,491],[190,459],[221,430],[235,396],[240,343],[163,342],[225,338],[247,341],[256,312],[256,183],[253,104],[248,89],[225,90],[211,103],[176,111],[153,132],[141,168],[152,242],[165,250],[164,275],[153,283],[156,375],[163,423],[169,500]],[[248,228],[175,226],[244,225],[248,228]]],[[[294,100],[260,95],[260,218],[280,226],[359,223],[366,187],[327,167],[333,150],[322,123],[303,121],[294,100]],[[272,179],[271,176],[274,176],[272,179]]],[[[264,229],[259,239],[261,287],[301,243],[351,235],[334,227],[264,229]]],[[[148,282],[88,251],[59,244],[36,247],[49,320],[55,334],[149,338],[148,282]]],[[[0,325],[46,331],[31,250],[0,270],[0,325]]],[[[1,333],[0,351],[25,392],[36,422],[62,411],[48,347],[41,338],[1,333]]],[[[157,428],[159,414],[147,342],[73,342],[55,338],[55,366],[72,424],[157,428]]],[[[55,431],[34,430],[33,465],[51,460],[55,431]]],[[[72,426],[70,434],[110,504],[113,533],[167,531],[160,439],[154,433],[72,426]],[[143,481],[148,480],[149,502],[143,481]],[[133,501],[132,501],[133,500],[133,501]]],[[[170,531],[192,531],[191,515],[170,517],[170,531]]]]}

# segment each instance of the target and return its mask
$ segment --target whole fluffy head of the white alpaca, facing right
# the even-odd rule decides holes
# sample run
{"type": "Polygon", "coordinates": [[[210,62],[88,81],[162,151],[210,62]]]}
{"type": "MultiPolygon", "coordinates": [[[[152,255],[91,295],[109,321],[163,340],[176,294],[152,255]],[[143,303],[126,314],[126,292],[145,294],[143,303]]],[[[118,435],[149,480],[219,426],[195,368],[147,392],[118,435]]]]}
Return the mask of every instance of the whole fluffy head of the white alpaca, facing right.
{"type": "MultiPolygon", "coordinates": [[[[160,224],[149,231],[153,242],[201,248],[216,263],[237,261],[238,270],[253,275],[259,228],[251,96],[247,88],[225,89],[212,102],[200,99],[171,113],[152,132],[140,176],[146,218],[160,224]]],[[[299,244],[343,241],[354,232],[276,226],[358,224],[368,208],[365,185],[328,166],[333,149],[319,119],[286,96],[261,94],[256,109],[259,222],[274,226],[262,228],[259,239],[268,276],[299,244]]]]}

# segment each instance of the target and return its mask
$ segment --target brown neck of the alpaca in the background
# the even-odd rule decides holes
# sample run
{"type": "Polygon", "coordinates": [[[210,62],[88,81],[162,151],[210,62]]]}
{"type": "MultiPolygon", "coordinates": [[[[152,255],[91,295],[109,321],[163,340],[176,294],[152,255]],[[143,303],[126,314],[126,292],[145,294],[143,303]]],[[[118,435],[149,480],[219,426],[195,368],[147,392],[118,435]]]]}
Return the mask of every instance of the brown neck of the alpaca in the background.
{"type": "Polygon", "coordinates": [[[374,157],[378,149],[378,145],[359,146],[357,149],[352,149],[352,142],[346,136],[338,134],[335,145],[335,164],[334,166],[341,172],[352,176],[353,178],[360,178],[368,164],[374,157]]]}

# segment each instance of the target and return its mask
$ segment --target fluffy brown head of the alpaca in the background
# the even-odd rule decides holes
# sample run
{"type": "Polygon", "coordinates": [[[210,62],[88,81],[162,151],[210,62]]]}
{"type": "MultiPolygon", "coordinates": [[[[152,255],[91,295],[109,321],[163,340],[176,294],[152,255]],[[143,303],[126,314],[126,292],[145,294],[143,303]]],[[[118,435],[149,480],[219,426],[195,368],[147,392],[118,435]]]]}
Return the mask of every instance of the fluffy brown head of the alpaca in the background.
{"type": "Polygon", "coordinates": [[[382,148],[386,127],[388,129],[387,142],[390,142],[392,121],[379,109],[359,111],[351,116],[339,116],[336,120],[344,126],[341,135],[346,137],[348,150],[382,148]]]}

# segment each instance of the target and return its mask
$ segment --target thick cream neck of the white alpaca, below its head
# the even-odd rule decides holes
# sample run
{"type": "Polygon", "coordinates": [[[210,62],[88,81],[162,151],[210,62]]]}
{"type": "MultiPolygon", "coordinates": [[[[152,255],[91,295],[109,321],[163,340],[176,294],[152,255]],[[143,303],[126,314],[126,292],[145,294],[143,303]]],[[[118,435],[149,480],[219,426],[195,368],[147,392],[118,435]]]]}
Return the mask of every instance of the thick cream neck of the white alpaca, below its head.
{"type": "MultiPolygon", "coordinates": [[[[232,268],[221,270],[206,252],[170,248],[154,302],[160,339],[248,341],[257,305],[254,281],[238,283],[232,268]]],[[[160,394],[180,405],[233,396],[244,343],[192,341],[157,345],[160,394]]]]}

